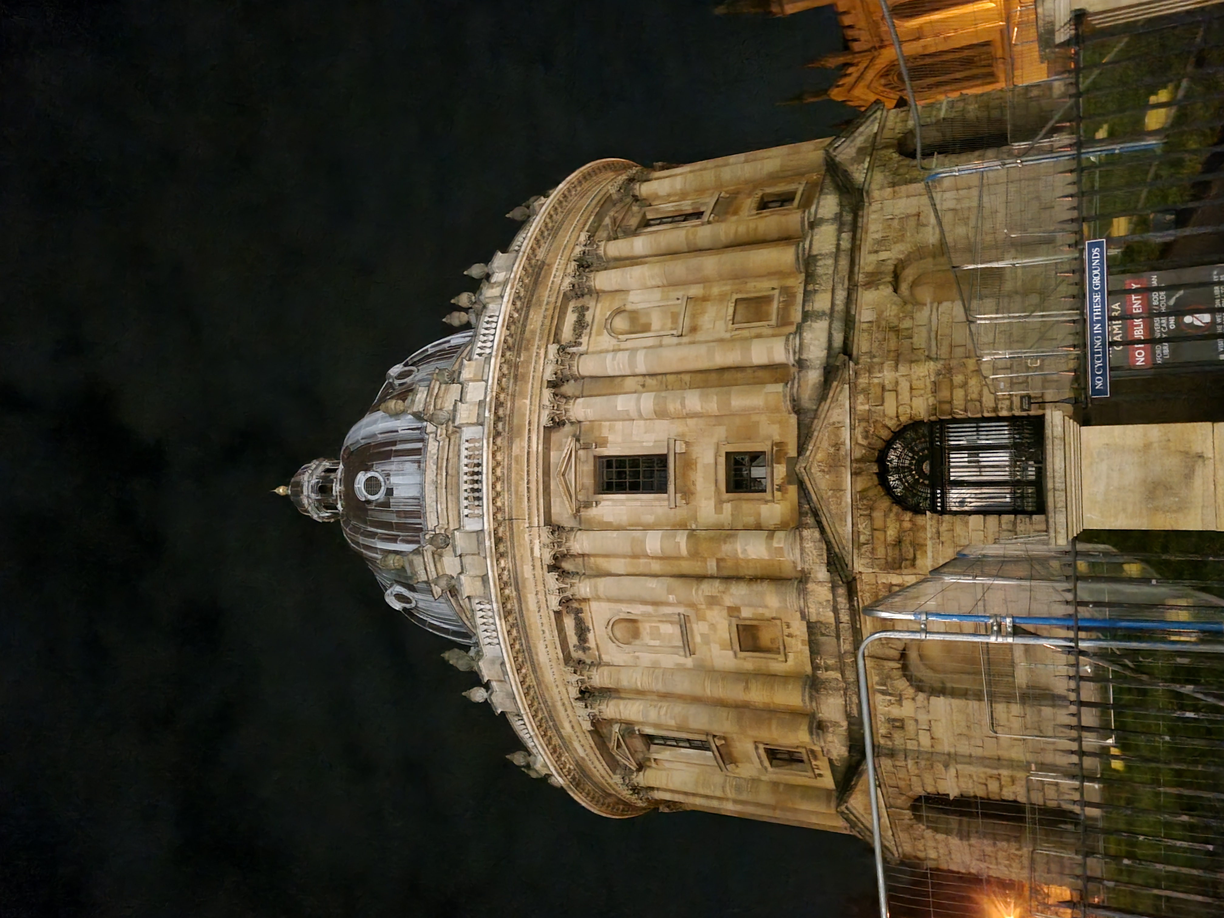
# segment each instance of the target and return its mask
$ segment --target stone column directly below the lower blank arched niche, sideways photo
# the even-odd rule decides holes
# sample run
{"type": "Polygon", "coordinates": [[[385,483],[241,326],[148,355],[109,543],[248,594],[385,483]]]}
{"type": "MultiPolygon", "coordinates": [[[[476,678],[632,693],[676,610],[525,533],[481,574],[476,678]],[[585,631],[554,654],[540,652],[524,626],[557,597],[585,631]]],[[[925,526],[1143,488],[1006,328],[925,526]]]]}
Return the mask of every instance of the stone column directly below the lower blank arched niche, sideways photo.
{"type": "Polygon", "coordinates": [[[731,707],[812,711],[808,677],[766,676],[721,670],[672,670],[656,666],[595,666],[588,674],[594,688],[644,695],[676,695],[731,707]]]}

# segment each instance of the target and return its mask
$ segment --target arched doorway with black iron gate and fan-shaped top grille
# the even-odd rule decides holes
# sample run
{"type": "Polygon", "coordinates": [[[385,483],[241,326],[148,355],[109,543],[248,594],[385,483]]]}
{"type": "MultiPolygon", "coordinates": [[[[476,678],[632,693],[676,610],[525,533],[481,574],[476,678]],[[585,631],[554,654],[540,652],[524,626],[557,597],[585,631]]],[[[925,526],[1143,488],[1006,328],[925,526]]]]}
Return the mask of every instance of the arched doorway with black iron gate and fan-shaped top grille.
{"type": "Polygon", "coordinates": [[[1040,417],[929,421],[880,450],[889,497],[914,513],[1044,513],[1040,417]]]}

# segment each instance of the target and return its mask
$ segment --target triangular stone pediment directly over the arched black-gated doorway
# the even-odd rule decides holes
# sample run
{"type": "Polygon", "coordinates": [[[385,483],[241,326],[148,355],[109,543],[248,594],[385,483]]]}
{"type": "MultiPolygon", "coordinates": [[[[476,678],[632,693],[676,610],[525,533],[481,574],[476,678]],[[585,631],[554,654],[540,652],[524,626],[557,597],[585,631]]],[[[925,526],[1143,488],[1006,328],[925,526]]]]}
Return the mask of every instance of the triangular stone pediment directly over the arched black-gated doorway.
{"type": "Polygon", "coordinates": [[[853,364],[842,357],[825,389],[808,442],[796,470],[808,499],[820,517],[829,547],[846,570],[852,570],[851,518],[851,381],[853,364]]]}

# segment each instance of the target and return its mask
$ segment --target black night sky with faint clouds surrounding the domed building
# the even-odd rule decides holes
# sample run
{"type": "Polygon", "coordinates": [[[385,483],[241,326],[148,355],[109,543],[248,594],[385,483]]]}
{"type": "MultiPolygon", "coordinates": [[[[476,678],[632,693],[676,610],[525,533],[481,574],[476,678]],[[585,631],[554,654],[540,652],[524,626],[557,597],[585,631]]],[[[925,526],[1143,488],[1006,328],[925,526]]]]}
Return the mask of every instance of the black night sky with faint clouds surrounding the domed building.
{"type": "Polygon", "coordinates": [[[842,916],[865,845],[607,820],[269,488],[601,157],[826,136],[829,9],[0,7],[0,917],[842,916]]]}

